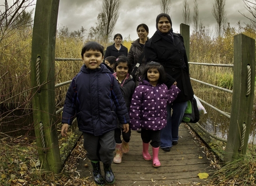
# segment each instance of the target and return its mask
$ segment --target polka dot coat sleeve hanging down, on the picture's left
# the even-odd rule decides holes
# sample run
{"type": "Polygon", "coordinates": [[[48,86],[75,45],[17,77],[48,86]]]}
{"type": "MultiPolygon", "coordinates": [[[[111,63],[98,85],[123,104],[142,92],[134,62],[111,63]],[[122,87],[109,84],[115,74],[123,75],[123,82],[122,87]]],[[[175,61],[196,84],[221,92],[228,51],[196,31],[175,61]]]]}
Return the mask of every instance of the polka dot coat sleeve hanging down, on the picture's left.
{"type": "Polygon", "coordinates": [[[142,105],[142,92],[136,87],[132,95],[131,106],[130,106],[130,128],[132,130],[139,130],[141,128],[141,105],[142,105]]]}

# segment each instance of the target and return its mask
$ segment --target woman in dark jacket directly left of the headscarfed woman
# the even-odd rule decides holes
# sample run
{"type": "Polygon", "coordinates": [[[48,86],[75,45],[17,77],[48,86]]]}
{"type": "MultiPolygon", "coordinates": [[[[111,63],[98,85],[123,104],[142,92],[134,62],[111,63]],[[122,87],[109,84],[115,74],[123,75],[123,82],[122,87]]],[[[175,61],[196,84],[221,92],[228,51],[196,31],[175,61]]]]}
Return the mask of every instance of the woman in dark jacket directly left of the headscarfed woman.
{"type": "Polygon", "coordinates": [[[139,38],[133,41],[128,53],[128,60],[133,64],[134,67],[137,65],[137,63],[141,63],[133,77],[135,79],[136,86],[139,85],[139,77],[142,75],[146,65],[146,58],[145,53],[143,54],[143,49],[146,41],[148,40],[148,26],[143,23],[139,24],[137,27],[137,33],[139,38]]]}

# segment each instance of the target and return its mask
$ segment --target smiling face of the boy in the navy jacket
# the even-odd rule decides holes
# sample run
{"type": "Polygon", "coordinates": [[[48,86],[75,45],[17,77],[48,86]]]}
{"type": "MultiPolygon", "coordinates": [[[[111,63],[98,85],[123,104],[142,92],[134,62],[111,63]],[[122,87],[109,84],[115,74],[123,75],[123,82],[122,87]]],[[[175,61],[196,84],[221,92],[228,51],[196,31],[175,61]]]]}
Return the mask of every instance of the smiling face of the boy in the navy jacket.
{"type": "Polygon", "coordinates": [[[100,66],[103,60],[103,56],[101,52],[97,50],[87,50],[85,51],[82,60],[88,69],[93,70],[97,69],[100,66]]]}

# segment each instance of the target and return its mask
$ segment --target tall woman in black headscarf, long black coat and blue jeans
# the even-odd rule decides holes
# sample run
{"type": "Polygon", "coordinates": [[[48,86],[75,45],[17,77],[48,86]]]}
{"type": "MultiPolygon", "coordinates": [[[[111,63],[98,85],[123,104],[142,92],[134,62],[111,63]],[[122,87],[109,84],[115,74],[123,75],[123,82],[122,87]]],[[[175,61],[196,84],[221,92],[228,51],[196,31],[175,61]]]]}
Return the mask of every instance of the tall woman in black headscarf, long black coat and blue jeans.
{"type": "Polygon", "coordinates": [[[168,14],[161,13],[156,18],[156,32],[145,45],[147,62],[155,61],[164,66],[166,85],[177,84],[181,90],[177,99],[167,106],[167,124],[161,130],[161,145],[164,151],[170,151],[178,144],[179,125],[182,122],[187,101],[194,96],[189,78],[188,58],[183,38],[173,33],[172,21],[168,14]],[[171,109],[173,110],[171,115],[171,109]]]}

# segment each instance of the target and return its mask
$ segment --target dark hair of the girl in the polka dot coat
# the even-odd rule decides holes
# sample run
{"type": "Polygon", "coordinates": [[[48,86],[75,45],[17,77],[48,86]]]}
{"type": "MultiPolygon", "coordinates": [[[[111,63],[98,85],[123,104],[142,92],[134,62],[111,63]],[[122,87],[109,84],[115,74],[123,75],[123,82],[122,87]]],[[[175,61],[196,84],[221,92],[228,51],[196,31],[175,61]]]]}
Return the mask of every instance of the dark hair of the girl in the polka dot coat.
{"type": "Polygon", "coordinates": [[[144,71],[141,75],[141,82],[143,81],[143,79],[149,81],[147,73],[148,73],[148,70],[153,69],[153,68],[157,69],[158,72],[159,72],[158,84],[164,83],[165,79],[166,79],[164,67],[160,63],[157,63],[157,62],[154,62],[154,61],[149,62],[145,66],[145,69],[144,69],[144,71]]]}

